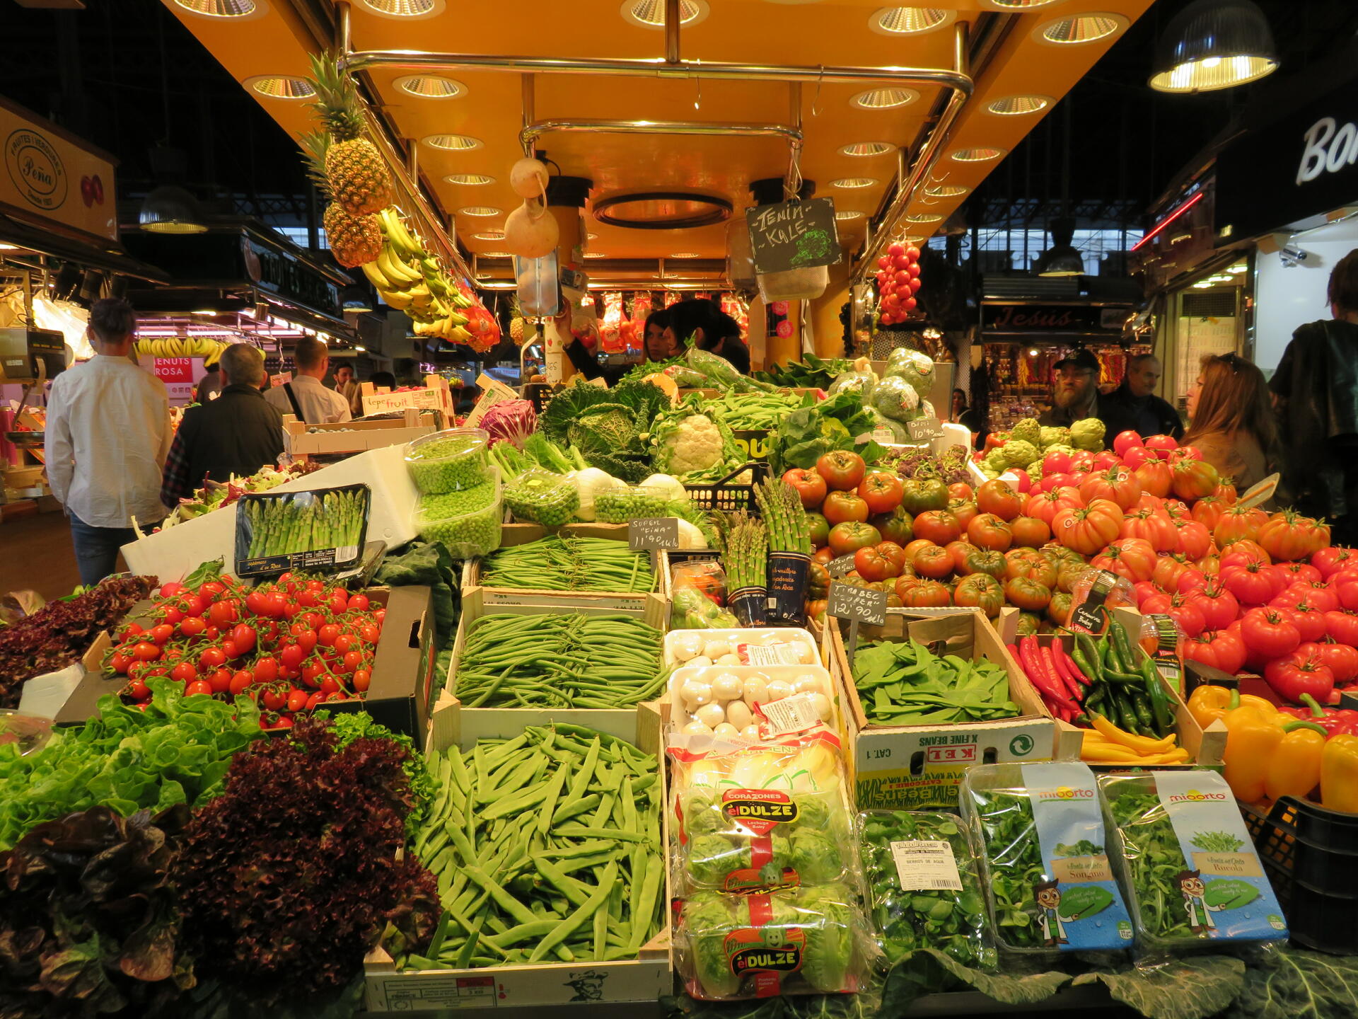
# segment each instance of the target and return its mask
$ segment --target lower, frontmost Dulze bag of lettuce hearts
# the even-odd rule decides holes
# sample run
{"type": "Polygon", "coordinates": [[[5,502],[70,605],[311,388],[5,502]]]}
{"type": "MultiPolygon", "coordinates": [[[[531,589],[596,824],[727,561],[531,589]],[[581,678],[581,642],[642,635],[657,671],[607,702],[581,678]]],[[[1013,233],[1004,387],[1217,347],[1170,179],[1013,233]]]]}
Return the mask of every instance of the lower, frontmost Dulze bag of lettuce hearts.
{"type": "Polygon", "coordinates": [[[865,925],[846,884],[699,893],[679,913],[679,970],[689,993],[708,1000],[853,992],[866,980],[856,936],[865,925]]]}

